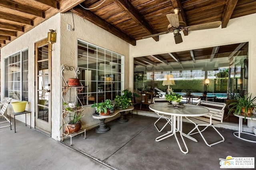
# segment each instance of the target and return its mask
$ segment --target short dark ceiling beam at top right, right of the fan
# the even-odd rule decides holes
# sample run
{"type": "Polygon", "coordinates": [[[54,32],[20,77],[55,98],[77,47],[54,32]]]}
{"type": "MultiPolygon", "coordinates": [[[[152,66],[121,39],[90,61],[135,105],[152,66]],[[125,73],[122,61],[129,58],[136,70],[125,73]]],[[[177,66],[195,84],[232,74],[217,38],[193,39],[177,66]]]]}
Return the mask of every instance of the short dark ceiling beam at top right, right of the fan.
{"type": "Polygon", "coordinates": [[[233,11],[236,7],[236,3],[238,0],[227,0],[226,8],[222,15],[222,24],[221,28],[226,28],[228,25],[228,21],[231,18],[231,15],[233,14],[233,11]]]}

